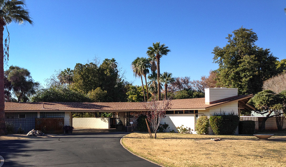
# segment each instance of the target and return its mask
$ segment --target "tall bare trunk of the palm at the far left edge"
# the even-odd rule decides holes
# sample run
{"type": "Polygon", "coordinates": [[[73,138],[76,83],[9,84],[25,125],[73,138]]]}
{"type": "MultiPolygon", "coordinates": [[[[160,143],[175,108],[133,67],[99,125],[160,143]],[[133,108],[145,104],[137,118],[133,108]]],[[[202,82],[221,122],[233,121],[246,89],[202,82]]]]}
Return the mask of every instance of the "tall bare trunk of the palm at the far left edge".
{"type": "Polygon", "coordinates": [[[0,21],[0,135],[5,133],[5,98],[4,98],[4,50],[3,50],[3,31],[4,21],[0,21]]]}

